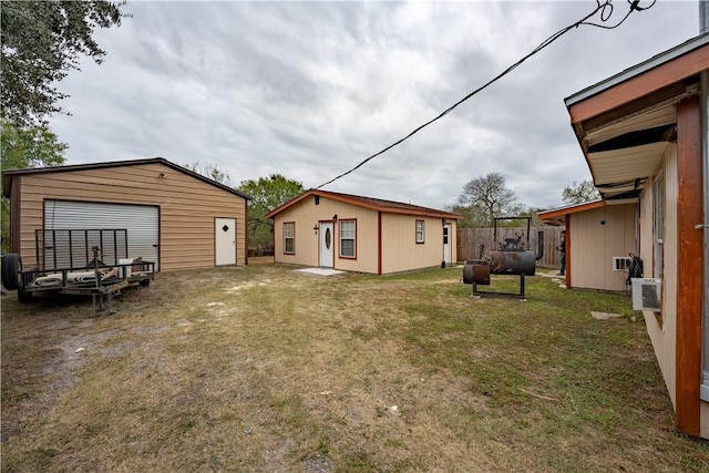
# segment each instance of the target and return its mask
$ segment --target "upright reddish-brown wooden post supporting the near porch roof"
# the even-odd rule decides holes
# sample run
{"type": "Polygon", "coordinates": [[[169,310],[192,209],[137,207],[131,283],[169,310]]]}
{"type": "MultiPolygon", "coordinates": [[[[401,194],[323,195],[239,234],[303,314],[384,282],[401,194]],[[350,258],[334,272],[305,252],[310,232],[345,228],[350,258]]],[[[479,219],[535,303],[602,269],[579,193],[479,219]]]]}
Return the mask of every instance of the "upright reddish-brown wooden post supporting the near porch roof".
{"type": "Polygon", "coordinates": [[[677,105],[677,392],[676,426],[699,435],[702,318],[701,107],[692,96],[677,105]]]}

